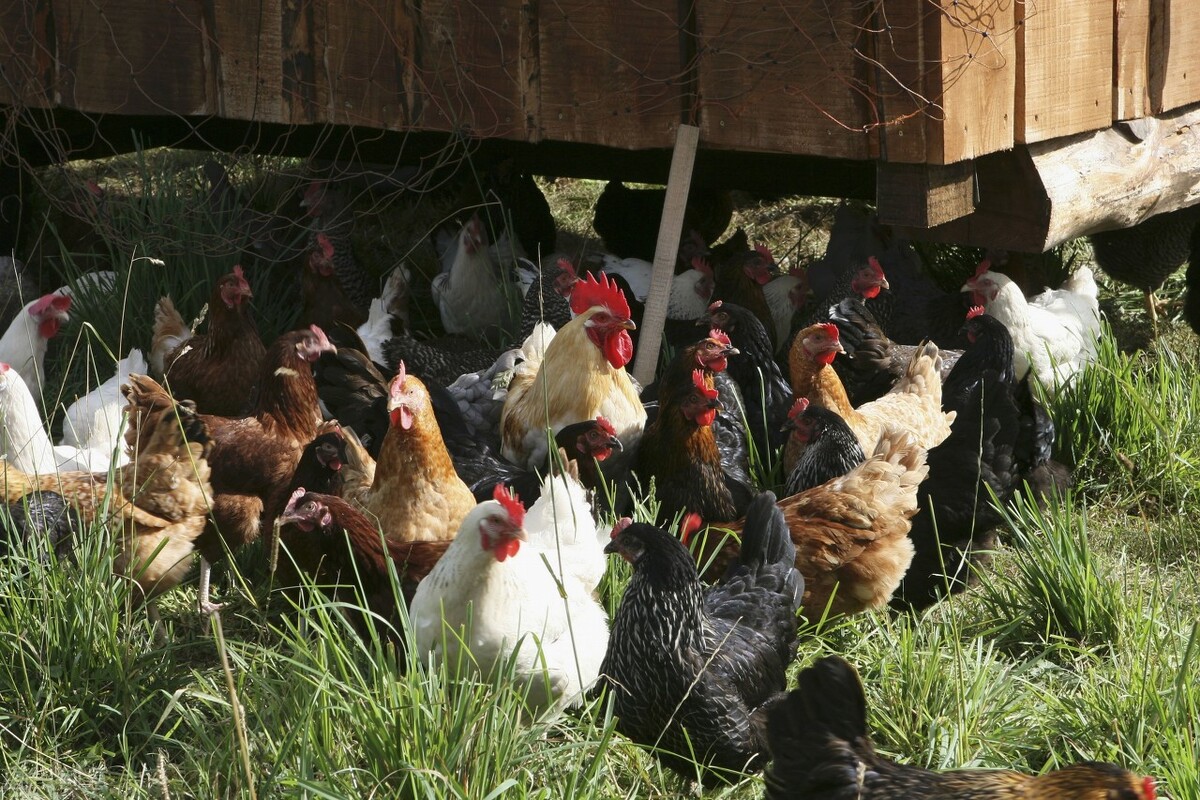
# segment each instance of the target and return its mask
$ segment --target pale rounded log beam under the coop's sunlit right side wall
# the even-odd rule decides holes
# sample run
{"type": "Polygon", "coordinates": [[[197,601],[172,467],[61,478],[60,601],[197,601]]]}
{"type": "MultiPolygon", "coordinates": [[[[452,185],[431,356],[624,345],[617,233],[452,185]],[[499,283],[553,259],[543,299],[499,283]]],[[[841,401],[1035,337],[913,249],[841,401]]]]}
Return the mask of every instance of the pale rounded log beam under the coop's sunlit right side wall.
{"type": "Polygon", "coordinates": [[[1042,252],[1200,203],[1200,104],[977,161],[979,203],[914,239],[1042,252]]]}

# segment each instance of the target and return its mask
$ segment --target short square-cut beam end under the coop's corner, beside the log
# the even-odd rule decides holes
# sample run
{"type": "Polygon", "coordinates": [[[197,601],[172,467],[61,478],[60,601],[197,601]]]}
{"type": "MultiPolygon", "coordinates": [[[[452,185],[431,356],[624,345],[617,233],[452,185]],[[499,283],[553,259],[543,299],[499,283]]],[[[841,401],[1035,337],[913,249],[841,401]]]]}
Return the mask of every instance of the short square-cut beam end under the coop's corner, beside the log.
{"type": "Polygon", "coordinates": [[[974,211],[974,161],[956,164],[895,164],[875,168],[880,222],[932,228],[974,211]]]}

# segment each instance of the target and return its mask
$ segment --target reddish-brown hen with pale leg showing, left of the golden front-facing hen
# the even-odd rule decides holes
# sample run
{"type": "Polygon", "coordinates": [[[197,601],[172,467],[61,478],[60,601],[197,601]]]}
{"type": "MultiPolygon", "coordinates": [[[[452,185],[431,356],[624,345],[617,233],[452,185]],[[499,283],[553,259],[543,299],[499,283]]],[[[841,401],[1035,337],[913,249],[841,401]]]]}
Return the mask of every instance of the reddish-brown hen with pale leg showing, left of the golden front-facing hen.
{"type": "MultiPolygon", "coordinates": [[[[288,483],[300,453],[317,435],[322,421],[310,365],[332,349],[324,331],[316,326],[284,333],[263,359],[253,414],[239,419],[200,417],[212,437],[209,464],[214,489],[212,521],[196,542],[202,557],[203,613],[221,608],[209,599],[212,563],[269,530],[287,503],[288,483]]],[[[169,402],[151,380],[131,375],[130,385],[127,397],[139,416],[152,415],[169,402]]],[[[131,446],[136,441],[132,428],[126,440],[131,446]]]]}

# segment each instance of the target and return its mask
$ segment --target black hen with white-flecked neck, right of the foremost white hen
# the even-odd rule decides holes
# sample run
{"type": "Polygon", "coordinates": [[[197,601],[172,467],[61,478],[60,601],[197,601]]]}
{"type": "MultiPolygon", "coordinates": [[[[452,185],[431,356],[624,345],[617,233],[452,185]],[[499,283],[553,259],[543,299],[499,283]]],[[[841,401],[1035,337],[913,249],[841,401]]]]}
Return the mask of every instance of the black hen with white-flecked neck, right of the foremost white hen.
{"type": "Polygon", "coordinates": [[[716,587],[701,584],[678,539],[628,517],[605,552],[634,567],[600,668],[617,730],[685,777],[697,764],[730,781],[762,769],[804,594],[775,495],[751,504],[742,552],[716,587]]]}

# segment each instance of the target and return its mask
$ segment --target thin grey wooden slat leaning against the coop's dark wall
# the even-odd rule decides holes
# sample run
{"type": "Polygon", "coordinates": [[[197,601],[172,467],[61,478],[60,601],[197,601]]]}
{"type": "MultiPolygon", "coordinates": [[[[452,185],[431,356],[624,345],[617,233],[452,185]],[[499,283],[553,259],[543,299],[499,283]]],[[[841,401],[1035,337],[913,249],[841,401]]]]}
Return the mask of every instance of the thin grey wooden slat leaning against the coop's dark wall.
{"type": "Polygon", "coordinates": [[[662,222],[659,223],[659,243],[654,248],[650,293],[646,296],[642,331],[637,337],[637,355],[634,360],[634,379],[643,386],[654,380],[654,371],[659,365],[659,347],[662,344],[662,326],[667,321],[671,279],[674,277],[676,257],[679,254],[679,234],[683,233],[683,212],[688,207],[691,169],[696,163],[698,144],[698,127],[680,125],[676,131],[667,196],[662,200],[662,222]]]}

